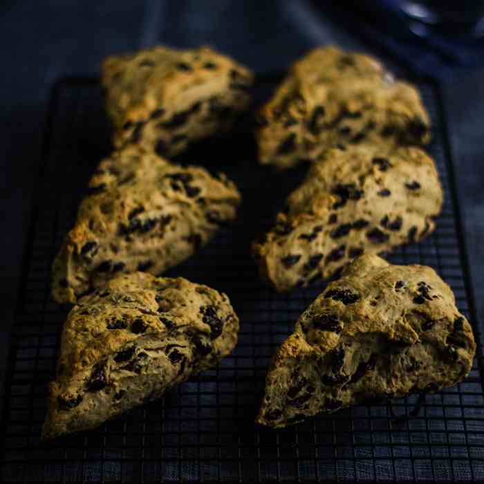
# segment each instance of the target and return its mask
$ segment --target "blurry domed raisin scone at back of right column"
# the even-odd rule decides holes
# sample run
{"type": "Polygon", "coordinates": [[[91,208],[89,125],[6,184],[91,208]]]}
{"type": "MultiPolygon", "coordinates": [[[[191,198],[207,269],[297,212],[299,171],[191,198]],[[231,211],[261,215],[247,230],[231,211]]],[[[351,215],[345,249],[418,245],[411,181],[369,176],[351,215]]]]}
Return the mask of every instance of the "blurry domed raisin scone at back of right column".
{"type": "Polygon", "coordinates": [[[364,140],[430,139],[429,115],[411,84],[395,80],[373,57],[333,46],[295,62],[257,119],[259,160],[280,169],[364,140]]]}

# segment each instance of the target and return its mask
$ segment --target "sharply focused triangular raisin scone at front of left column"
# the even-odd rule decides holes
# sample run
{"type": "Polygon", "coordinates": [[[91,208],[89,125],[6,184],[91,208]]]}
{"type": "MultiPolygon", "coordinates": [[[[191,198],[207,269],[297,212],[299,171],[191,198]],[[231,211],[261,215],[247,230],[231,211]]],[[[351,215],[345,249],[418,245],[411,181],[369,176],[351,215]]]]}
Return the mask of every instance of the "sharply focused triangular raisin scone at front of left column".
{"type": "Polygon", "coordinates": [[[43,438],[91,429],[159,398],[234,348],[227,295],[181,277],[121,275],[69,313],[43,438]]]}

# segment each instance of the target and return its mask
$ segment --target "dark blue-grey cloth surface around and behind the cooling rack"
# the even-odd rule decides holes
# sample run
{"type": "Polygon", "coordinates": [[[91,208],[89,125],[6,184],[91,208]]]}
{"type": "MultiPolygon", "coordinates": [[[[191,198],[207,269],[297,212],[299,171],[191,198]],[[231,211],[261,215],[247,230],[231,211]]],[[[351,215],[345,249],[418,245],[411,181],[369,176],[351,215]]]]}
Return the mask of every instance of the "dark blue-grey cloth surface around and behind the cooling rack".
{"type": "MultiPolygon", "coordinates": [[[[327,2],[294,1],[6,1],[1,12],[0,139],[2,162],[2,316],[8,331],[17,295],[21,259],[38,174],[50,88],[58,77],[97,75],[100,59],[111,53],[158,42],[189,47],[212,44],[258,72],[285,68],[319,44],[378,54],[378,44],[394,49],[395,61],[418,58],[418,46],[362,35],[351,15],[333,15],[327,2]],[[317,5],[315,5],[317,3],[317,5]],[[407,48],[407,50],[405,50],[407,48]]],[[[354,16],[354,12],[352,14],[354,16]]],[[[422,51],[423,52],[423,51],[422,51]]],[[[422,55],[420,66],[429,67],[422,55]]],[[[414,63],[415,66],[415,63],[414,63]]],[[[462,73],[463,71],[459,71],[462,73]]],[[[484,315],[484,208],[481,187],[481,133],[484,73],[469,68],[445,89],[460,207],[479,315],[484,315]]],[[[449,76],[446,76],[446,78],[449,76]]],[[[455,77],[455,76],[451,76],[455,77]]],[[[68,160],[66,160],[68,162],[68,160]]],[[[1,339],[5,339],[1,335],[1,339]]]]}

